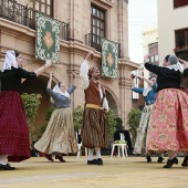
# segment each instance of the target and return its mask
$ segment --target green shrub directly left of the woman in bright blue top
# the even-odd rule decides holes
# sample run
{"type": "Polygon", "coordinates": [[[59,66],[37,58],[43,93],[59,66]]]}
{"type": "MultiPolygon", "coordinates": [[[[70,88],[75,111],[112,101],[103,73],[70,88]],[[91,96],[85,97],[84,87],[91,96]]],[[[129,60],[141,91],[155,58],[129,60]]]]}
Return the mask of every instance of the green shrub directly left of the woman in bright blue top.
{"type": "Polygon", "coordinates": [[[142,112],[138,108],[132,108],[127,115],[127,124],[129,125],[129,133],[132,135],[132,143],[135,145],[136,136],[137,136],[137,128],[139,126],[142,112]]]}

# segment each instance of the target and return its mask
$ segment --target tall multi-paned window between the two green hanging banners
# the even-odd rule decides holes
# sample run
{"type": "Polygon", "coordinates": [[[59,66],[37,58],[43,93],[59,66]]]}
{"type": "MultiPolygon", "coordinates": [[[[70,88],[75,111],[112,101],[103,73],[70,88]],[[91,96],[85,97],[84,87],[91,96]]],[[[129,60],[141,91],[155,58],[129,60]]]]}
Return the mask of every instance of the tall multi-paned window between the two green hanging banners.
{"type": "Polygon", "coordinates": [[[105,38],[105,11],[94,6],[91,11],[92,42],[101,45],[101,38],[105,38]]]}

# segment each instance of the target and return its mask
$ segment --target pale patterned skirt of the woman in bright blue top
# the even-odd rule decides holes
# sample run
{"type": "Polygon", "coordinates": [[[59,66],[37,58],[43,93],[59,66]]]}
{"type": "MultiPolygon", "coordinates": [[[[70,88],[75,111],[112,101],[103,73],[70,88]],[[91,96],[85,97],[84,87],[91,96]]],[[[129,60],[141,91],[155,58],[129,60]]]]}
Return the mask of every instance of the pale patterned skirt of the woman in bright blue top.
{"type": "Polygon", "coordinates": [[[147,144],[147,130],[150,122],[150,115],[153,112],[153,105],[145,106],[142,113],[139,127],[137,129],[137,137],[134,147],[134,154],[146,154],[147,144]]]}

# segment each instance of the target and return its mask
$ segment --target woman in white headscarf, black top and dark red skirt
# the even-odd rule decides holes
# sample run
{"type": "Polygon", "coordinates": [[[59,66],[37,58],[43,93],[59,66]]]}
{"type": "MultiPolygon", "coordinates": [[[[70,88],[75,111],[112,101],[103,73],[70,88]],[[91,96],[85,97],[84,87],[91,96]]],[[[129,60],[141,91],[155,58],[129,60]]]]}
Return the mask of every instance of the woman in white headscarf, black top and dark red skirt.
{"type": "Polygon", "coordinates": [[[28,72],[22,69],[22,59],[19,52],[8,51],[0,72],[0,169],[12,170],[8,161],[21,161],[30,158],[29,127],[23,103],[19,94],[21,79],[35,79],[46,67],[45,65],[28,72]]]}

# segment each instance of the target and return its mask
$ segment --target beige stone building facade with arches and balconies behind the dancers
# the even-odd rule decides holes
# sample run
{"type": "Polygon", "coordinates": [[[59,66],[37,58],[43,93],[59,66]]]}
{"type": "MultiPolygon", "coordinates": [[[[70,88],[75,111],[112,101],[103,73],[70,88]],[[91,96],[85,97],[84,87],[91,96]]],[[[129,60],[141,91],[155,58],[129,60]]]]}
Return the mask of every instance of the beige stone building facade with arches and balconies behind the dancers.
{"type": "MultiPolygon", "coordinates": [[[[4,52],[13,49],[22,54],[23,69],[34,71],[44,62],[35,60],[35,12],[60,21],[60,62],[34,81],[23,81],[22,93],[42,94],[35,125],[44,122],[50,100],[46,94],[49,72],[53,71],[53,85],[73,82],[70,70],[79,69],[88,52],[94,52],[90,66],[102,64],[101,39],[119,43],[118,76],[101,79],[105,85],[109,107],[119,116],[125,128],[132,108],[130,71],[138,67],[128,58],[127,0],[0,0],[0,65],[4,52]]],[[[72,109],[84,105],[80,85],[72,95],[72,109]]]]}

